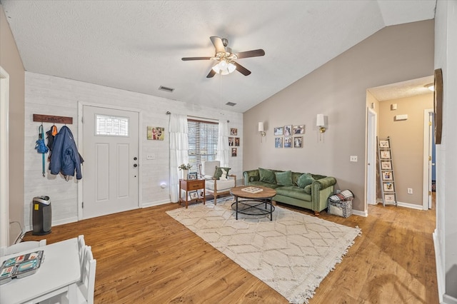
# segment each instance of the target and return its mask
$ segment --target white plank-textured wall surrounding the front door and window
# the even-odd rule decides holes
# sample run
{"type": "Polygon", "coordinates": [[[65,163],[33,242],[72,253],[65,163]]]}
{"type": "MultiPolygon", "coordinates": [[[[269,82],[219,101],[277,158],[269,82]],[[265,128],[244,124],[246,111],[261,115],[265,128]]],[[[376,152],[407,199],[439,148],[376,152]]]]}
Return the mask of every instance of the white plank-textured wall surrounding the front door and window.
{"type": "MultiPolygon", "coordinates": [[[[26,72],[26,109],[25,109],[25,196],[24,207],[25,223],[31,225],[31,202],[35,196],[46,195],[52,203],[52,225],[69,223],[78,219],[78,183],[71,178],[65,181],[61,176],[53,176],[46,165],[46,178],[41,177],[41,154],[36,153],[35,141],[38,136],[40,123],[33,121],[33,114],[56,116],[70,116],[74,123],[67,125],[79,143],[79,128],[82,127],[78,119],[78,106],[81,103],[93,103],[99,106],[126,108],[139,111],[141,116],[140,141],[142,151],[139,155],[139,199],[140,207],[169,203],[169,115],[166,111],[176,114],[198,116],[211,119],[229,120],[229,128],[237,128],[240,138],[238,155],[230,157],[231,173],[236,176],[242,174],[243,163],[243,114],[224,111],[217,108],[196,106],[191,103],[174,101],[167,98],[149,96],[142,93],[124,91],[117,88],[108,88],[92,83],[74,81],[55,76],[46,76],[26,72]],[[147,126],[165,128],[164,141],[146,139],[147,126]],[[147,154],[152,153],[154,160],[146,160],[147,154]],[[166,188],[161,188],[161,183],[166,188]]],[[[44,123],[44,130],[48,131],[52,123],[44,123]]],[[[56,124],[60,129],[61,124],[56,124]]],[[[47,142],[47,141],[46,141],[47,142]]],[[[81,147],[79,152],[82,153],[81,147]]],[[[23,152],[24,153],[24,152],[23,152]]],[[[82,155],[84,158],[84,155],[82,155]]],[[[24,161],[24,159],[23,159],[24,161]]],[[[84,167],[93,166],[84,162],[82,166],[83,180],[84,167]]],[[[30,228],[29,228],[30,230],[30,228]]]]}

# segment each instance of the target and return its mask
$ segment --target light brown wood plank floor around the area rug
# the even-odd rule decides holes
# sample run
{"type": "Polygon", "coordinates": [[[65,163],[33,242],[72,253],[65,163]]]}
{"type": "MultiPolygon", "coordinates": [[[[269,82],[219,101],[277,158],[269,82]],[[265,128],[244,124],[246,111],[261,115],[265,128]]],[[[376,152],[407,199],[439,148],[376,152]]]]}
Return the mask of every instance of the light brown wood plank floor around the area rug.
{"type": "MultiPolygon", "coordinates": [[[[175,208],[169,203],[91,218],[54,226],[44,237],[27,233],[24,240],[54,243],[84,234],[97,260],[95,303],[288,303],[165,213],[175,208]]],[[[321,213],[359,226],[362,235],[310,303],[438,303],[435,210],[378,205],[368,213],[321,213]]]]}

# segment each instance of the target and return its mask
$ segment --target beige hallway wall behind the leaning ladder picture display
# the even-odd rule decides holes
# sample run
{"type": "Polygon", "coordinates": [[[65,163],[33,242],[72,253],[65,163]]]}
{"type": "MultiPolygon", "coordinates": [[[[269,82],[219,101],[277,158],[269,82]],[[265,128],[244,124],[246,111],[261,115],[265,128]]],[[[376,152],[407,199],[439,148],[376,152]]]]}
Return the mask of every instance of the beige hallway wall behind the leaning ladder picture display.
{"type": "Polygon", "coordinates": [[[423,200],[423,111],[427,108],[433,108],[433,93],[379,103],[378,134],[391,138],[397,202],[418,208],[423,200]],[[396,110],[391,110],[393,103],[396,110]],[[407,114],[408,119],[396,121],[395,116],[401,114],[407,114]],[[412,188],[413,194],[408,194],[407,188],[412,188]]]}

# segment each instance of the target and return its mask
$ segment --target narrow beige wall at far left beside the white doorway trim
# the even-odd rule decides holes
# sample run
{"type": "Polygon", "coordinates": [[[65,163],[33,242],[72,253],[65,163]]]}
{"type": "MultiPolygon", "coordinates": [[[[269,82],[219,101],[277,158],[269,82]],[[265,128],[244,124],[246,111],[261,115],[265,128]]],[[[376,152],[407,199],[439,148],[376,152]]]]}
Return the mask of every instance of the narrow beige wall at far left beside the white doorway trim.
{"type": "Polygon", "coordinates": [[[9,243],[24,228],[24,65],[0,4],[0,66],[9,74],[9,243]],[[19,226],[20,225],[20,226],[19,226]]]}

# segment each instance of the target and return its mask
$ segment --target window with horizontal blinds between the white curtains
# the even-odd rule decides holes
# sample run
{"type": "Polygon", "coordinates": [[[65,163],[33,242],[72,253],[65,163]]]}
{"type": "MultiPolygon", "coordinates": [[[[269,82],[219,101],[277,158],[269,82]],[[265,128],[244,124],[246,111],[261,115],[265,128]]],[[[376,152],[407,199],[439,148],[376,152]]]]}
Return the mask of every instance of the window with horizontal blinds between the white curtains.
{"type": "Polygon", "coordinates": [[[202,162],[216,160],[219,123],[188,119],[187,128],[191,171],[200,174],[199,166],[202,162]]]}

